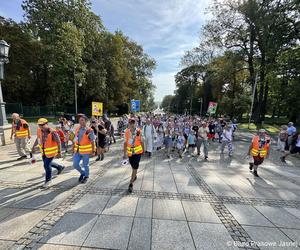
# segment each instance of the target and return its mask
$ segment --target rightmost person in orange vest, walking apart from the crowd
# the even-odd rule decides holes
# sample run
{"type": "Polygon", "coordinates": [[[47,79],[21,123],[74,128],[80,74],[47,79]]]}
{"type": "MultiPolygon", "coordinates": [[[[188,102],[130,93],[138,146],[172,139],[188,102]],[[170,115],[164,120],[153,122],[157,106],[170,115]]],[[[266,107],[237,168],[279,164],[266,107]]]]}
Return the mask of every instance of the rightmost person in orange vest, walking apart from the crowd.
{"type": "Polygon", "coordinates": [[[258,166],[264,162],[265,158],[269,157],[270,149],[270,137],[264,129],[258,131],[258,135],[255,135],[252,139],[252,143],[249,146],[248,155],[252,155],[254,163],[249,163],[250,171],[253,170],[253,175],[258,176],[258,166]]]}

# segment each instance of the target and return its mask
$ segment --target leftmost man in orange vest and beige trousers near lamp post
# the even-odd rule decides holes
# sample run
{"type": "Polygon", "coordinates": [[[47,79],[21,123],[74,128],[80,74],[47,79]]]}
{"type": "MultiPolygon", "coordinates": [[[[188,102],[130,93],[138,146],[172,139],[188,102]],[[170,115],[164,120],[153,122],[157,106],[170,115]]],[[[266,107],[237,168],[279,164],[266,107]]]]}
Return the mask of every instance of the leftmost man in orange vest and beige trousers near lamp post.
{"type": "Polygon", "coordinates": [[[30,151],[27,143],[28,139],[31,138],[30,128],[28,123],[24,119],[21,119],[17,113],[12,114],[12,120],[10,139],[12,140],[13,136],[15,137],[14,141],[20,156],[17,160],[23,160],[27,158],[26,152],[30,151]]]}

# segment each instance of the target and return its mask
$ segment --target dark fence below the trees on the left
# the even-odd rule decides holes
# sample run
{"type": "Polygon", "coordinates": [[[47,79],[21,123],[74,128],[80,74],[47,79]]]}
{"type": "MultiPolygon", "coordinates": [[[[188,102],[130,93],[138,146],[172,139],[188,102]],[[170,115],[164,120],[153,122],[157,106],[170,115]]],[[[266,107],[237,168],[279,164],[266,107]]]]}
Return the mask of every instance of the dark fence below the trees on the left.
{"type": "MultiPolygon", "coordinates": [[[[24,106],[22,103],[6,103],[5,104],[6,114],[9,117],[12,113],[18,113],[23,117],[55,117],[62,114],[75,114],[75,107],[72,106],[58,106],[58,105],[47,105],[47,106],[24,106]]],[[[91,108],[84,107],[78,108],[78,113],[84,113],[91,115],[91,108]]]]}

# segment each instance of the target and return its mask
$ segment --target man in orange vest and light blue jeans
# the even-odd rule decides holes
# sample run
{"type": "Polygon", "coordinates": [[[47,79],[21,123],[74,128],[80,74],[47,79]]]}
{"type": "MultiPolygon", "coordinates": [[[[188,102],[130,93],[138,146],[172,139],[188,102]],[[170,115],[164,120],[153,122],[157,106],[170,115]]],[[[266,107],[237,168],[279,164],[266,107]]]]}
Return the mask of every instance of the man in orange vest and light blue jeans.
{"type": "Polygon", "coordinates": [[[73,167],[80,173],[79,183],[86,183],[89,178],[90,156],[95,152],[95,135],[92,128],[87,127],[88,118],[82,115],[79,118],[79,128],[75,132],[73,148],[73,167]],[[82,167],[80,162],[82,161],[82,167]]]}

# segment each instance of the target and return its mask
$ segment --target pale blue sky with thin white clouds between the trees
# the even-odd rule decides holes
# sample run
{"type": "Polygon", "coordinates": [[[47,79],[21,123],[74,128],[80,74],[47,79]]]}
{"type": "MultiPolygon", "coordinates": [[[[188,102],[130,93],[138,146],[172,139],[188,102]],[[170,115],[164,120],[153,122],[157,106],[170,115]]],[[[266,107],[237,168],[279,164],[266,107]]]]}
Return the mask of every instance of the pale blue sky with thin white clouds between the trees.
{"type": "MultiPolygon", "coordinates": [[[[0,15],[23,20],[22,0],[0,0],[0,15]]],[[[156,61],[152,81],[155,101],[174,93],[174,75],[180,71],[185,51],[199,42],[199,31],[208,19],[210,0],[92,0],[92,10],[105,27],[143,46],[156,61]]]]}

